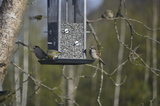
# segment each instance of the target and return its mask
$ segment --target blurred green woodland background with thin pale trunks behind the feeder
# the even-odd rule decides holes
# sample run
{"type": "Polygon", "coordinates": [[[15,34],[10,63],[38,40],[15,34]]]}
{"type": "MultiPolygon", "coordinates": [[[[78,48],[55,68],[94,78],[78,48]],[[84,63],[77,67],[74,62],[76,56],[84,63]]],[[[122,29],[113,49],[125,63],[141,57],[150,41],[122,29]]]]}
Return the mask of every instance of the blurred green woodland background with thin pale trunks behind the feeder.
{"type": "MultiPolygon", "coordinates": [[[[95,3],[90,0],[87,5],[95,3]]],[[[158,0],[104,0],[88,13],[88,30],[91,25],[101,43],[104,73],[97,63],[41,65],[33,52],[15,44],[13,64],[3,83],[4,89],[15,94],[1,105],[159,106],[159,9],[158,0]],[[123,17],[116,17],[119,9],[123,17]],[[114,18],[101,19],[105,10],[112,10],[114,18]]],[[[30,18],[36,15],[47,16],[47,1],[28,0],[17,41],[47,51],[47,18],[30,18]]],[[[87,48],[97,46],[92,35],[87,34],[87,48]]]]}

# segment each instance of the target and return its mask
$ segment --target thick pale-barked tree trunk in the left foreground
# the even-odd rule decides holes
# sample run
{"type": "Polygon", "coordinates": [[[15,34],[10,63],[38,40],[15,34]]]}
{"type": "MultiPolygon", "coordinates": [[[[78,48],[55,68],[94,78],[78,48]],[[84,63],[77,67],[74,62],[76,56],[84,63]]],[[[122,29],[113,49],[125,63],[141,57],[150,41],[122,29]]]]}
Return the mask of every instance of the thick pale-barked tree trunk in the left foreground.
{"type": "Polygon", "coordinates": [[[0,7],[0,80],[3,83],[27,0],[3,0],[0,7]]]}

